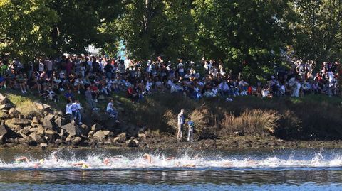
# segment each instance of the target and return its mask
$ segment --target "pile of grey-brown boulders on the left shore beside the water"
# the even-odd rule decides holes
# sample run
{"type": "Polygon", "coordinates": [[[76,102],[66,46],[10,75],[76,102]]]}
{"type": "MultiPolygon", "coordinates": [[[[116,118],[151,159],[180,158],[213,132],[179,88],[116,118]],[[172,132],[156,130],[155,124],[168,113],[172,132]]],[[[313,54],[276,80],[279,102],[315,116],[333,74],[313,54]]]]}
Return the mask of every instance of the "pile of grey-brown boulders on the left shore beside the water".
{"type": "Polygon", "coordinates": [[[61,112],[46,104],[35,103],[39,116],[22,115],[9,99],[0,94],[0,145],[41,146],[128,146],[138,147],[145,139],[137,126],[116,123],[106,113],[83,114],[85,124],[67,121],[61,112]],[[38,107],[41,106],[41,107],[38,107]],[[87,125],[88,124],[88,125],[87,125]]]}

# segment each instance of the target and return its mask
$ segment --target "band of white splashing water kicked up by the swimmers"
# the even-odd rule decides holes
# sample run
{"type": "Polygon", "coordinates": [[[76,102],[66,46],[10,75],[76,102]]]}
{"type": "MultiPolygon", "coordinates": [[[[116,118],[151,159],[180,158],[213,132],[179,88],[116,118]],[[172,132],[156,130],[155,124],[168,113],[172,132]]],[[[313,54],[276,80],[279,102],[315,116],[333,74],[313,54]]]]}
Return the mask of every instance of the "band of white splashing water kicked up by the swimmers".
{"type": "Polygon", "coordinates": [[[247,156],[234,158],[232,156],[205,157],[200,155],[183,154],[170,158],[165,154],[146,155],[106,155],[90,154],[84,158],[76,155],[66,157],[63,152],[52,152],[48,157],[34,159],[28,156],[27,161],[0,160],[0,168],[75,168],[75,169],[164,169],[164,168],[336,168],[342,165],[342,155],[324,156],[321,151],[311,158],[289,155],[287,158],[279,156],[247,156]]]}

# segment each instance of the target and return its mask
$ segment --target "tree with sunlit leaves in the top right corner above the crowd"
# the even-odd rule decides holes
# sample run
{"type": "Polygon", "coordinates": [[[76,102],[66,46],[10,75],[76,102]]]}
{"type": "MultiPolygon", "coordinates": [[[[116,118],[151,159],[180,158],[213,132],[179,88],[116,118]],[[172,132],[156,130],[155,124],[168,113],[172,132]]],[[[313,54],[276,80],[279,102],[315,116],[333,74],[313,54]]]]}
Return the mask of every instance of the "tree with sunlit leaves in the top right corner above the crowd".
{"type": "Polygon", "coordinates": [[[298,19],[294,50],[299,58],[334,61],[341,58],[342,1],[298,0],[293,4],[298,19]]]}

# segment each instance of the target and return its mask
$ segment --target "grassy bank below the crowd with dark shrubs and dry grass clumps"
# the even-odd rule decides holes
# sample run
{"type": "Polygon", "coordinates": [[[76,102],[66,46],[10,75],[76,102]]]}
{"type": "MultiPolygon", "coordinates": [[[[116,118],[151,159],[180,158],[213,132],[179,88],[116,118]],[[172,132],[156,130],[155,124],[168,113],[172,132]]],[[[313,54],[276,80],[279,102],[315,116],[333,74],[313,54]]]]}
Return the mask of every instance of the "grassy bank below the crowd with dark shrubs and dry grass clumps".
{"type": "MultiPolygon", "coordinates": [[[[22,114],[35,115],[33,102],[43,102],[35,94],[25,97],[17,91],[1,90],[22,114]]],[[[82,96],[76,94],[86,106],[82,96]]],[[[301,98],[260,99],[236,97],[233,102],[224,99],[198,101],[175,94],[154,94],[144,102],[133,104],[125,94],[115,94],[123,111],[120,120],[125,124],[147,126],[154,133],[174,135],[177,113],[185,109],[187,119],[195,121],[195,135],[200,139],[229,136],[274,136],[285,140],[339,140],[342,139],[342,99],[323,95],[301,98]]],[[[53,103],[51,109],[63,111],[65,101],[53,103]]],[[[100,101],[105,110],[110,97],[100,101]]]]}

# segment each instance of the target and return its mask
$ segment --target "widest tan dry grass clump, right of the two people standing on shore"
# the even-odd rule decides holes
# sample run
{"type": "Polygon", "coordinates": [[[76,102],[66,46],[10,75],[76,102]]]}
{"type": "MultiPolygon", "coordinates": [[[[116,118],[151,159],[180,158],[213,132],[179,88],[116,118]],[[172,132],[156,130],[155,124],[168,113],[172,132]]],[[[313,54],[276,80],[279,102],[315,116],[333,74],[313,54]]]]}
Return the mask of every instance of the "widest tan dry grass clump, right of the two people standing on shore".
{"type": "Polygon", "coordinates": [[[250,135],[273,134],[279,126],[280,116],[276,111],[252,109],[240,116],[225,114],[222,121],[222,133],[242,132],[250,135]]]}

